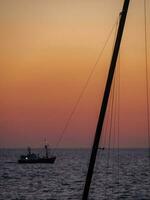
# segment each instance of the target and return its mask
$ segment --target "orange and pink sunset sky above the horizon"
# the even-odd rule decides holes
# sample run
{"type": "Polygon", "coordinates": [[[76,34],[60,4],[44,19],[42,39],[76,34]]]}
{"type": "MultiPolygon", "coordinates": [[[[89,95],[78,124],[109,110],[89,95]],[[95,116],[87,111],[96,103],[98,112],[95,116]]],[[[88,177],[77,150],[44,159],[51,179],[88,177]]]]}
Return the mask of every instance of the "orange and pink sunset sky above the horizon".
{"type": "MultiPolygon", "coordinates": [[[[0,148],[55,147],[123,0],[0,1],[0,148]]],[[[150,1],[147,0],[150,67],[150,1]]],[[[89,147],[115,30],[59,147],[89,147]]],[[[144,0],[129,6],[120,51],[120,146],[147,147],[144,0]]],[[[150,70],[149,70],[150,77],[150,70]]]]}

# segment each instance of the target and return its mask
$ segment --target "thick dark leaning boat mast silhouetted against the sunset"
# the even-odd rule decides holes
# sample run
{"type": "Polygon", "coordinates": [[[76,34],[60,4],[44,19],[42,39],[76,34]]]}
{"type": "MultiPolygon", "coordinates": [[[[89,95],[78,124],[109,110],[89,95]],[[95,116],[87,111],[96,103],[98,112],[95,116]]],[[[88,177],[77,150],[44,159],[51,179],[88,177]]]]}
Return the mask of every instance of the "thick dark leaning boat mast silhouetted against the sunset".
{"type": "Polygon", "coordinates": [[[88,168],[88,172],[87,172],[87,176],[86,176],[86,182],[85,182],[85,186],[84,186],[82,200],[88,199],[88,194],[89,194],[90,184],[91,184],[91,180],[92,180],[92,176],[93,176],[93,170],[94,170],[94,165],[95,165],[95,161],[96,161],[99,140],[100,140],[101,133],[102,133],[105,113],[106,113],[110,90],[111,90],[111,85],[112,85],[112,81],[113,81],[113,77],[114,77],[114,72],[115,72],[117,57],[118,57],[118,53],[119,53],[120,43],[121,43],[121,39],[122,39],[122,34],[123,34],[124,26],[125,26],[129,2],[130,2],[130,0],[124,0],[122,12],[120,13],[120,22],[119,22],[119,27],[118,27],[118,33],[117,33],[114,51],[113,51],[113,55],[112,55],[112,59],[111,59],[107,82],[106,82],[106,86],[105,86],[105,91],[104,91],[103,101],[102,101],[101,110],[100,110],[100,114],[99,114],[99,119],[98,119],[98,123],[97,123],[97,128],[96,128],[95,138],[94,138],[94,142],[93,142],[90,163],[89,163],[89,168],[88,168]]]}

